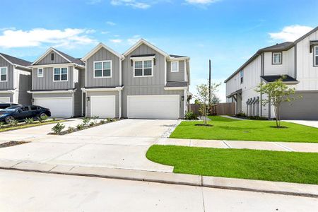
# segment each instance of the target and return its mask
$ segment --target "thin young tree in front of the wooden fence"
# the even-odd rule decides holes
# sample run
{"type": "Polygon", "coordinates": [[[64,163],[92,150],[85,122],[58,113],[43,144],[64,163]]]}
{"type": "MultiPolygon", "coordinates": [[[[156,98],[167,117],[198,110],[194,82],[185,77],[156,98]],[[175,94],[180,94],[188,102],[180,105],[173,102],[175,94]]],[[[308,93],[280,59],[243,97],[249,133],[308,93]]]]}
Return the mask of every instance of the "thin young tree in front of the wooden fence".
{"type": "MultiPolygon", "coordinates": [[[[218,92],[218,87],[220,86],[220,83],[211,83],[211,99],[216,97],[216,93],[218,92]]],[[[209,92],[208,92],[208,83],[201,84],[199,86],[196,86],[196,100],[199,100],[201,107],[200,112],[202,114],[202,117],[204,119],[204,124],[208,124],[208,120],[206,117],[208,116],[208,100],[209,100],[209,92]]]]}

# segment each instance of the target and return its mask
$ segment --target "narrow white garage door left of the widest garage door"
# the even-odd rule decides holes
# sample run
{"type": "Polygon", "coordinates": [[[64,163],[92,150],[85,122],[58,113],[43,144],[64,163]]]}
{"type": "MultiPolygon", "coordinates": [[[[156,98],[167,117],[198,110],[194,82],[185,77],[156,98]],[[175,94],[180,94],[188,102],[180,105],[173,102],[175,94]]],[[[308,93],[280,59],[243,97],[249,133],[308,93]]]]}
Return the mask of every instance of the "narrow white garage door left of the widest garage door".
{"type": "Polygon", "coordinates": [[[115,117],[114,95],[92,95],[90,96],[90,116],[100,118],[115,117]]]}

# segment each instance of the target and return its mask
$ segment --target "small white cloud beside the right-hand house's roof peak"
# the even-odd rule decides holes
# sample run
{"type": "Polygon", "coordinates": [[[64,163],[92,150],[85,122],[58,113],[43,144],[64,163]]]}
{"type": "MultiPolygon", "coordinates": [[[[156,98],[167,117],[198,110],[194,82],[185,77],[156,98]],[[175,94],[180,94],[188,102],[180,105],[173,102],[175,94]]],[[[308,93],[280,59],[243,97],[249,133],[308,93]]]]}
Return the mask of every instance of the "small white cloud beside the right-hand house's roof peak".
{"type": "Polygon", "coordinates": [[[285,26],[281,32],[269,33],[271,39],[281,41],[295,41],[302,35],[305,35],[313,28],[305,25],[289,25],[285,26]]]}

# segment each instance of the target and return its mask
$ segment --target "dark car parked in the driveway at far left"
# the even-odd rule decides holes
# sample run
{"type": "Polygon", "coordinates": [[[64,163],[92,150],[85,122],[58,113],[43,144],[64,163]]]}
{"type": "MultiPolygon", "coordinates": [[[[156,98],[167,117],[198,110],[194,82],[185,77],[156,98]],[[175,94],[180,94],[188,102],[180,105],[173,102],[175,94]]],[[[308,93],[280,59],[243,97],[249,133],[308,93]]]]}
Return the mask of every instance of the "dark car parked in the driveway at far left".
{"type": "Polygon", "coordinates": [[[49,109],[37,105],[19,106],[13,105],[0,111],[0,122],[9,124],[13,120],[23,120],[26,118],[38,119],[47,115],[51,116],[49,109]]]}

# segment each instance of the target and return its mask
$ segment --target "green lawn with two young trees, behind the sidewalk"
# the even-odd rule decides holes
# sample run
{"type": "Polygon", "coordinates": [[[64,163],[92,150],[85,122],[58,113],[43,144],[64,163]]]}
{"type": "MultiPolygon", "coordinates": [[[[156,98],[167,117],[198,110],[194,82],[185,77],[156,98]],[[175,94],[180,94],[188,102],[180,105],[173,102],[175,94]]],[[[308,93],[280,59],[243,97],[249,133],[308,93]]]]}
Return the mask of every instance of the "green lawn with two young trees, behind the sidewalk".
{"type": "MultiPolygon", "coordinates": [[[[170,138],[234,141],[293,141],[318,143],[318,129],[300,124],[282,122],[286,129],[276,129],[275,122],[259,120],[235,120],[210,117],[208,126],[195,126],[200,122],[182,122],[170,138]]],[[[202,121],[201,121],[202,123],[202,121]]]]}

